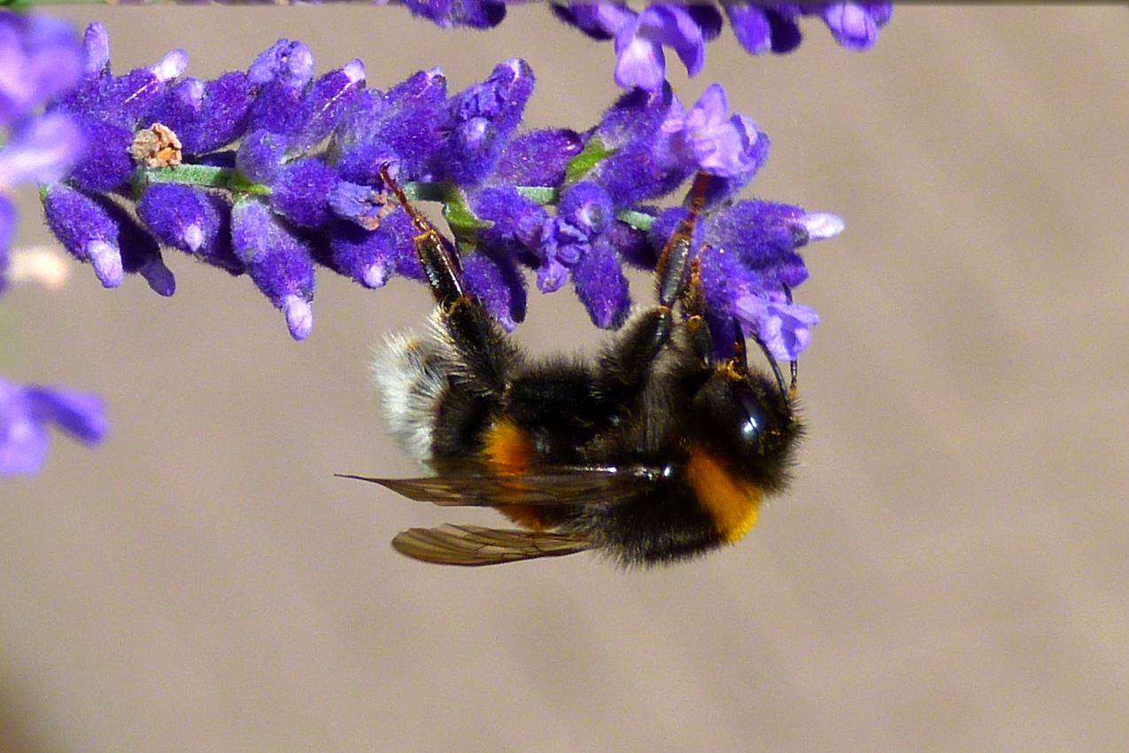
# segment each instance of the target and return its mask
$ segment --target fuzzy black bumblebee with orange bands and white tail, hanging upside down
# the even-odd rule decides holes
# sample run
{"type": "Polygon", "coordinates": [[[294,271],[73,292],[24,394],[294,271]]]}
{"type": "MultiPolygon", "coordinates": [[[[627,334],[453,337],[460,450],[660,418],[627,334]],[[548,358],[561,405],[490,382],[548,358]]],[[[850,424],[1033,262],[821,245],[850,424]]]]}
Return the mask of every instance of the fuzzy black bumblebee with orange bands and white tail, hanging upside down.
{"type": "Polygon", "coordinates": [[[796,365],[772,376],[715,358],[691,237],[709,176],[663,248],[656,305],[590,360],[528,361],[462,281],[454,246],[386,185],[411,217],[436,300],[420,334],[391,338],[374,364],[393,436],[435,475],[371,481],[440,506],[492,507],[520,528],[444,525],[392,541],[425,562],[498,564],[594,550],[627,567],[665,564],[730,544],[788,481],[802,435],[796,365]],[[675,316],[675,309],[679,316],[675,316]]]}

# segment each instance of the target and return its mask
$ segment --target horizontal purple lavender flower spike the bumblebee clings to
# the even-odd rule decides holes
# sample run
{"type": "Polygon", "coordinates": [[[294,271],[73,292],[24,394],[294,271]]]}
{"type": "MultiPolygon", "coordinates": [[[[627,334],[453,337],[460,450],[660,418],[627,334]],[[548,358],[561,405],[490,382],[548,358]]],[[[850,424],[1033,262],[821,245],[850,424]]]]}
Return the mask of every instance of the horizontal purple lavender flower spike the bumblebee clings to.
{"type": "Polygon", "coordinates": [[[584,132],[519,132],[534,78],[516,59],[448,95],[438,69],[387,91],[366,87],[357,60],[315,77],[309,50],[287,40],[211,81],[185,77],[181,51],[114,76],[104,29],[85,42],[87,75],[52,112],[97,141],[42,195],[51,229],[106,287],[139,273],[172,295],[161,246],[175,248],[246,273],[303,339],[316,266],[368,288],[422,279],[387,166],[414,198],[443,202],[466,286],[502,326],[525,316],[528,268],[544,292],[571,281],[592,321],[615,327],[630,306],[624,263],[653,269],[682,211],[649,202],[704,170],[711,325],[728,333],[736,318],[778,358],[808,342],[815,314],[787,296],[807,275],[796,249],[841,222],[735,200],[768,138],[728,113],[718,85],[689,110],[669,87],[636,88],[584,132]]]}

